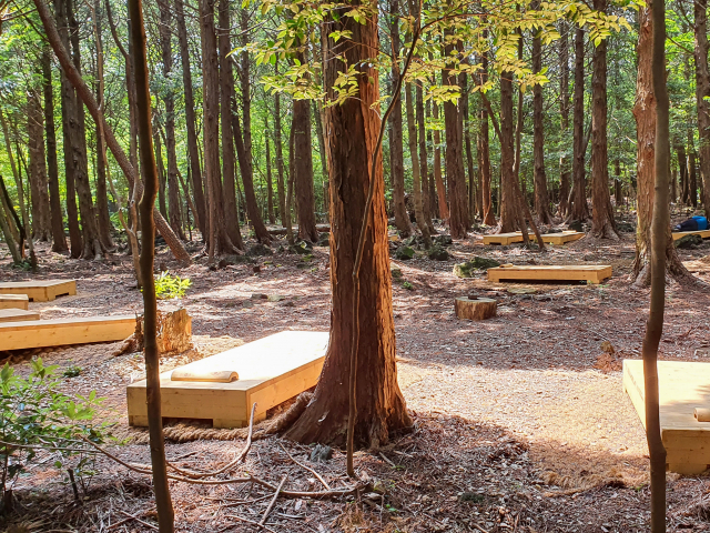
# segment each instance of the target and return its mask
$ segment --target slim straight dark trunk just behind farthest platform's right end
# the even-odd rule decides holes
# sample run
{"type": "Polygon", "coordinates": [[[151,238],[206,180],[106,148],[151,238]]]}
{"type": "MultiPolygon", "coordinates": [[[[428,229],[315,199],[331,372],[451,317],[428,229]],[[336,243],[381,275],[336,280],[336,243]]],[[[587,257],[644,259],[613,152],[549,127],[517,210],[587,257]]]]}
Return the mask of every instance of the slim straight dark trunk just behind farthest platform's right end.
{"type": "Polygon", "coordinates": [[[572,194],[569,220],[589,219],[587,183],[585,179],[585,31],[575,30],[575,95],[572,111],[572,194]]]}

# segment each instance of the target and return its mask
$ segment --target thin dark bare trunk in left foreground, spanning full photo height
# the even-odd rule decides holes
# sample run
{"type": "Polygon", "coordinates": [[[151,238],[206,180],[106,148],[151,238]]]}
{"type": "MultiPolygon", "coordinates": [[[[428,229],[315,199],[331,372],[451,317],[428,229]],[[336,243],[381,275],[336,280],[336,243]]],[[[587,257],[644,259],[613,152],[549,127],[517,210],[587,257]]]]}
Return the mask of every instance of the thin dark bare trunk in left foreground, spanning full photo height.
{"type": "Polygon", "coordinates": [[[150,433],[151,465],[158,524],[160,533],[174,531],[174,512],[168,483],[165,464],[165,441],[163,439],[163,419],[161,415],[160,393],[160,355],[158,353],[158,305],[155,301],[155,282],[153,280],[153,260],[155,254],[155,225],[153,212],[158,193],[158,171],[153,159],[151,132],[151,95],[148,89],[148,60],[145,57],[145,31],[141,0],[129,0],[129,13],[133,20],[131,41],[135,53],[136,107],[139,110],[139,143],[141,150],[141,168],[145,177],[145,191],[141,200],[141,274],[143,278],[143,345],[145,354],[145,396],[148,403],[148,424],[150,433]]]}

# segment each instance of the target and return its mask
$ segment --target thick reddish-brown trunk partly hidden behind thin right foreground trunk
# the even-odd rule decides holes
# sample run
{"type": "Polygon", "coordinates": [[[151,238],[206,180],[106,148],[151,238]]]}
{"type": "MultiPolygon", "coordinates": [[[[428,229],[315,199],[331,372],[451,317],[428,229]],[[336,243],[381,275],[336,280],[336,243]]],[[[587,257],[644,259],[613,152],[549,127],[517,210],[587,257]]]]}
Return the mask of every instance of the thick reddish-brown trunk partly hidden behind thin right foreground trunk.
{"type": "MultiPolygon", "coordinates": [[[[651,283],[651,221],[656,199],[655,157],[656,157],[656,108],[652,80],[653,21],[651,6],[639,10],[638,74],[636,80],[636,102],[633,117],[637,130],[637,227],[636,260],[633,280],[638,286],[651,283]]],[[[691,276],[678,258],[670,231],[670,223],[663,230],[666,238],[666,270],[677,280],[690,280],[691,276]]]]}

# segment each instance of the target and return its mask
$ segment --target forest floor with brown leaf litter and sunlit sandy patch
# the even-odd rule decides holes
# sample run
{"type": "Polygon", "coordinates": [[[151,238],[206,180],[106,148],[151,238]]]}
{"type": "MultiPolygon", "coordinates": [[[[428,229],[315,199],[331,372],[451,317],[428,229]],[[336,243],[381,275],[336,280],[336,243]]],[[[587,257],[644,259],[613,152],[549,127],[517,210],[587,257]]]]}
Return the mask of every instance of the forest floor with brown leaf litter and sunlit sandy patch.
{"type": "MultiPolygon", "coordinates": [[[[648,291],[635,290],[629,282],[633,233],[623,233],[619,242],[585,238],[549,247],[545,254],[517,244],[484,247],[481,235],[471,233],[448,250],[448,261],[433,261],[419,252],[409,261],[392,261],[403,272],[393,283],[398,380],[416,429],[382,450],[356,455],[361,476],[384,492],[384,499],[280,499],[266,523],[268,531],[648,531],[648,449],[620,372],[622,359],[640,358],[648,315],[648,291]],[[485,271],[473,279],[456,278],[454,264],[473,255],[511,263],[611,264],[613,276],[601,285],[490,283],[485,271]],[[536,292],[510,294],[511,286],[536,292]],[[495,294],[497,318],[456,319],[454,298],[474,291],[495,294]],[[602,342],[611,343],[616,353],[602,351],[602,342]]],[[[691,271],[710,283],[710,260],[702,260],[710,254],[710,242],[679,252],[683,261],[693,261],[691,271]]],[[[0,279],[75,279],[77,295],[30,303],[43,319],[142,309],[124,255],[74,261],[40,245],[39,259],[39,273],[2,266],[0,279]]],[[[159,250],[156,264],[192,280],[184,298],[161,304],[187,310],[201,355],[286,329],[327,331],[327,248],[314,248],[310,260],[274,253],[251,261],[212,271],[200,260],[180,269],[164,247],[159,250]],[[255,301],[253,293],[284,299],[255,301]]],[[[660,358],[710,362],[709,321],[710,290],[671,283],[660,358]]],[[[116,346],[13,353],[10,361],[20,372],[27,372],[33,355],[61,369],[81,366],[79,376],[64,379],[65,390],[83,394],[95,389],[105,396],[110,410],[104,415],[115,419],[118,433],[138,436],[112,446],[112,452],[149,463],[148,445],[136,443],[144,441],[145,431],[129,430],[125,413],[125,385],[144,376],[143,358],[111,356],[116,346]]],[[[182,362],[168,359],[163,368],[182,362]]],[[[242,446],[241,440],[169,442],[166,453],[184,467],[212,470],[242,446]]],[[[284,449],[331,486],[345,486],[343,453],[335,451],[327,463],[310,463],[307,446],[277,438],[253,443],[245,464],[233,474],[248,472],[277,484],[288,473],[291,490],[320,490],[313,474],[294,464],[284,449]]],[[[11,522],[41,520],[38,531],[151,531],[126,519],[129,513],[155,523],[145,476],[99,459],[98,473],[77,505],[62,473],[48,470],[52,456],[39,462],[14,484],[18,503],[11,522]],[[128,521],[119,524],[123,520],[128,521]]],[[[668,486],[669,531],[710,531],[710,480],[669,474],[668,486]]],[[[257,531],[234,516],[258,522],[271,499],[271,492],[248,484],[172,483],[172,493],[181,532],[257,531]]]]}

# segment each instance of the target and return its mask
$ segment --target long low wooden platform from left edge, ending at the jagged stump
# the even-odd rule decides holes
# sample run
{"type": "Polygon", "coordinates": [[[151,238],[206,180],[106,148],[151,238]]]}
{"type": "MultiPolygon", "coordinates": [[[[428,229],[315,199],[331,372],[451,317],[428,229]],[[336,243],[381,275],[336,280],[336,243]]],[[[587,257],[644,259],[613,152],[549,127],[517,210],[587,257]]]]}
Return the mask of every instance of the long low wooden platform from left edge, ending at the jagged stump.
{"type": "Polygon", "coordinates": [[[0,323],[0,350],[122,341],[135,331],[135,316],[82,316],[0,323]]]}

